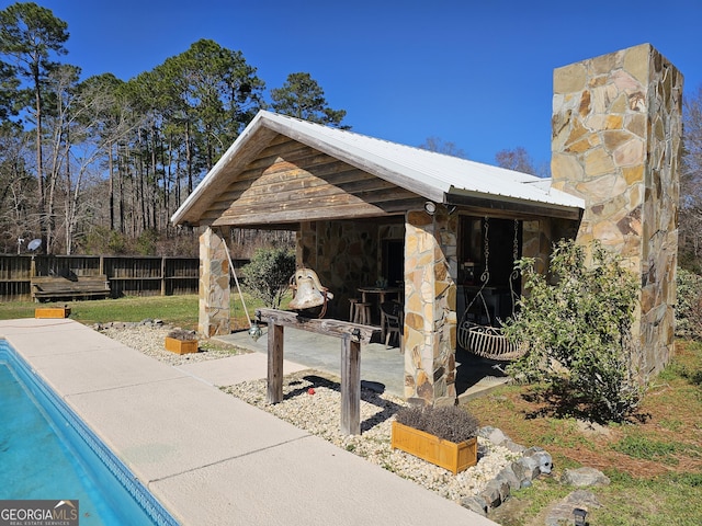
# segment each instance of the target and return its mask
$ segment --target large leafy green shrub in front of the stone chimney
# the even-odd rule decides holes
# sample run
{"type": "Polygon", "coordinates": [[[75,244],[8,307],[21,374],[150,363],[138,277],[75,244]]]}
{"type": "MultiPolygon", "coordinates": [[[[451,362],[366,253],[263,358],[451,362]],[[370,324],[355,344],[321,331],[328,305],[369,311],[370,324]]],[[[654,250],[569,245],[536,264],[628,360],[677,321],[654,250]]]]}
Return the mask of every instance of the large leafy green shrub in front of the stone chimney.
{"type": "Polygon", "coordinates": [[[622,421],[638,405],[643,388],[634,364],[631,327],[636,277],[600,243],[562,241],[551,256],[552,278],[518,265],[525,296],[505,332],[529,352],[508,371],[550,385],[561,409],[598,422],[622,421]]]}

